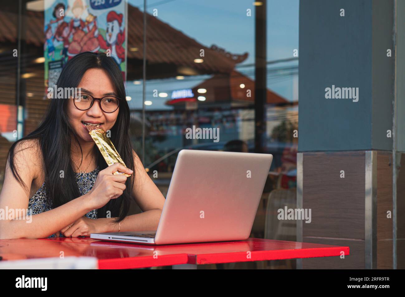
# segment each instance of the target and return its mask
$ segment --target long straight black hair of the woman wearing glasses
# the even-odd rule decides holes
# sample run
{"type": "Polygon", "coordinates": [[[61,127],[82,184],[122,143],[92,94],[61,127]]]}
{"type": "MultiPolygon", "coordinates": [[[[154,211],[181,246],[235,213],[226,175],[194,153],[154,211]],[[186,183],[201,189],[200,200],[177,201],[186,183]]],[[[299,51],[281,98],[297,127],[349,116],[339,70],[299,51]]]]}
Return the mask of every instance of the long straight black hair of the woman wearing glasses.
{"type": "MultiPolygon", "coordinates": [[[[115,222],[122,221],[128,215],[131,198],[131,189],[134,185],[134,159],[129,135],[130,110],[126,101],[126,93],[122,72],[112,57],[107,57],[104,53],[85,52],[73,57],[63,68],[56,85],[58,88],[76,88],[79,85],[84,73],[91,68],[100,68],[107,71],[115,91],[121,100],[119,101],[119,113],[117,120],[111,128],[111,141],[117,149],[119,155],[124,161],[126,167],[132,169],[134,173],[127,179],[124,193],[111,199],[106,205],[98,209],[97,217],[107,217],[107,211],[111,211],[111,217],[117,217],[115,222]]],[[[49,86],[53,87],[53,86],[49,86]]],[[[56,96],[54,96],[56,97],[56,96]]],[[[45,181],[48,198],[52,199],[53,207],[58,207],[69,202],[80,195],[73,171],[72,161],[70,159],[70,145],[72,138],[80,147],[77,135],[69,123],[67,107],[68,100],[72,99],[51,99],[45,118],[38,128],[23,137],[13,145],[9,150],[7,158],[9,159],[10,169],[17,181],[27,187],[15,168],[14,156],[15,146],[27,139],[38,139],[40,150],[42,151],[43,164],[45,170],[45,181]],[[63,170],[64,177],[60,177],[60,171],[63,170]]],[[[83,152],[82,152],[83,153],[83,152]]],[[[97,147],[94,147],[96,164],[100,170],[107,168],[107,163],[100,154],[97,147]]],[[[83,160],[83,154],[82,154],[83,160]]],[[[29,191],[28,191],[29,192],[29,191]]]]}

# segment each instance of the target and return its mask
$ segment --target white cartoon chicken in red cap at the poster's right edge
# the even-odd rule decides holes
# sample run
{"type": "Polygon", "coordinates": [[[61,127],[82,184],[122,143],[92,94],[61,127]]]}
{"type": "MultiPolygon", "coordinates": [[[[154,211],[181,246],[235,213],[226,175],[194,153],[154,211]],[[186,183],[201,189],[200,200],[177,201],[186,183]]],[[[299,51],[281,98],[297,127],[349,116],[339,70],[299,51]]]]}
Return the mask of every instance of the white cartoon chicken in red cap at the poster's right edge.
{"type": "Polygon", "coordinates": [[[100,48],[111,51],[111,57],[115,59],[118,65],[125,60],[125,49],[122,44],[125,41],[125,29],[121,31],[122,13],[117,14],[115,11],[110,11],[107,14],[107,30],[105,37],[101,34],[97,36],[100,48]]]}

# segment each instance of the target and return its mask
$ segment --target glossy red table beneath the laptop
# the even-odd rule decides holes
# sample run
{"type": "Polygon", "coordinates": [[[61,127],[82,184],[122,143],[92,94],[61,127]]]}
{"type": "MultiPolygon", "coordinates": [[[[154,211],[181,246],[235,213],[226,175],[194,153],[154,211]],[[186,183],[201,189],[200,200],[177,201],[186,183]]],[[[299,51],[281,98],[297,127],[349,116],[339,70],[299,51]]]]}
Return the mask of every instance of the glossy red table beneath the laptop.
{"type": "MultiPolygon", "coordinates": [[[[249,238],[248,240],[148,246],[84,238],[2,239],[3,260],[64,256],[98,259],[99,269],[129,269],[175,265],[232,263],[349,255],[348,246],[249,238]]],[[[177,266],[178,265],[178,266],[177,266]]]]}

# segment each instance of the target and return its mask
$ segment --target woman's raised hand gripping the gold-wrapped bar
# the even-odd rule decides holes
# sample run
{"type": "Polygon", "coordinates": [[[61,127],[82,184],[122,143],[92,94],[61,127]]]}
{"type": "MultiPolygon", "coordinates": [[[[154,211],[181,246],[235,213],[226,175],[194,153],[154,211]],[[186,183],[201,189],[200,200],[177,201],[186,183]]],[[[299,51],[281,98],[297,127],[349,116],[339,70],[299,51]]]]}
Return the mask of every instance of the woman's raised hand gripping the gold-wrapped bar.
{"type": "Polygon", "coordinates": [[[113,174],[115,171],[132,174],[133,171],[125,166],[115,163],[100,171],[92,190],[87,192],[89,197],[89,211],[99,209],[107,204],[110,199],[118,198],[124,192],[127,177],[122,174],[113,174]]]}

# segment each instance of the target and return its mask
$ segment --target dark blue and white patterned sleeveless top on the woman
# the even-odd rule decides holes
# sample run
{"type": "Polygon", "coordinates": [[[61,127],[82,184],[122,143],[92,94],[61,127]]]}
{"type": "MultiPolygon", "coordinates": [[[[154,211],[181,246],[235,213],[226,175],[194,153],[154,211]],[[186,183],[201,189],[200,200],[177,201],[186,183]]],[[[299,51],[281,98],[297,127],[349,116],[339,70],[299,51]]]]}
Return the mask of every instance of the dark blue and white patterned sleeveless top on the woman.
{"type": "MultiPolygon", "coordinates": [[[[81,195],[86,194],[92,189],[99,172],[100,168],[97,166],[97,168],[94,169],[92,172],[75,173],[77,186],[79,187],[79,192],[81,195]]],[[[28,213],[32,211],[32,215],[36,215],[38,213],[43,213],[45,211],[53,209],[53,202],[48,197],[45,183],[46,181],[44,181],[42,186],[28,201],[28,213]]],[[[97,209],[89,211],[88,213],[86,213],[85,216],[88,217],[89,219],[97,219],[97,209]]],[[[52,234],[48,236],[48,238],[52,238],[55,236],[56,236],[55,234],[52,234]]],[[[63,237],[63,235],[60,234],[60,237],[63,237]]]]}

